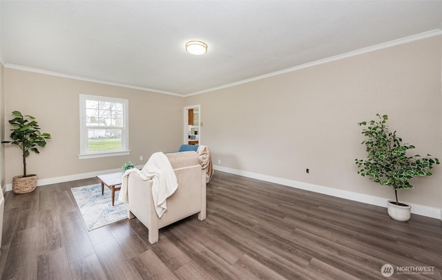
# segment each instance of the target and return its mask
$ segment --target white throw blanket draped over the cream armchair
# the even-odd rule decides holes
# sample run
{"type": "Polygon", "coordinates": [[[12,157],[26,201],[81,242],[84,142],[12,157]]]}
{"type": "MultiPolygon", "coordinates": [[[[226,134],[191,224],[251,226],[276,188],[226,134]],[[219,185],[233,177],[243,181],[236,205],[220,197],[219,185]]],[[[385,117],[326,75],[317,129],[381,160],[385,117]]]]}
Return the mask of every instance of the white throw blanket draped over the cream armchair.
{"type": "Polygon", "coordinates": [[[120,201],[128,201],[128,174],[133,172],[137,173],[138,177],[144,181],[152,179],[153,203],[157,216],[161,218],[167,210],[166,199],[178,188],[177,177],[169,159],[162,152],[155,152],[148,159],[141,171],[137,168],[126,170],[123,174],[122,188],[118,196],[120,201]]]}

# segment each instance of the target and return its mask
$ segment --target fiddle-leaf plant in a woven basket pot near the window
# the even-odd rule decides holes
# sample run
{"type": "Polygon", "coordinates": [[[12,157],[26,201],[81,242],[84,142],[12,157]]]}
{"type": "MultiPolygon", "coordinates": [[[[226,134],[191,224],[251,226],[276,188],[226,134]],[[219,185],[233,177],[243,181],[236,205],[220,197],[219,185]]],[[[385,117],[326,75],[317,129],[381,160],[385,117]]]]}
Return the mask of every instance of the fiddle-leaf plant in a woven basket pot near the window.
{"type": "Polygon", "coordinates": [[[37,187],[37,175],[27,174],[26,172],[26,157],[29,157],[30,152],[39,154],[38,147],[46,146],[46,139],[50,139],[50,134],[41,133],[35,117],[21,114],[19,111],[12,112],[15,116],[9,123],[12,125],[12,132],[10,138],[13,141],[2,141],[1,143],[12,143],[22,151],[23,154],[23,176],[15,176],[12,179],[12,190],[16,194],[23,194],[32,192],[37,187]]]}

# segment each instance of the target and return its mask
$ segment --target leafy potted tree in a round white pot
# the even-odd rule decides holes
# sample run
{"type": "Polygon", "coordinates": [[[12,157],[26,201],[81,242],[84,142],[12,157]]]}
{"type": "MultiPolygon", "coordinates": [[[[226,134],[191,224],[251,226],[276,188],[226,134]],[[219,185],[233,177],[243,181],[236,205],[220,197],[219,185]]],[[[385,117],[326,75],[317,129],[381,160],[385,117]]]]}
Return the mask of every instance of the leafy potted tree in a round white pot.
{"type": "Polygon", "coordinates": [[[390,186],[394,190],[395,201],[387,202],[387,210],[390,217],[397,221],[410,219],[411,206],[398,201],[398,190],[413,188],[410,179],[417,176],[431,176],[428,170],[434,164],[439,164],[439,159],[427,154],[421,157],[419,154],[408,156],[407,150],[415,147],[402,143],[402,139],[396,136],[396,131],[391,132],[386,125],[388,116],[376,114],[377,121],[362,121],[359,126],[367,126],[362,134],[367,137],[363,141],[368,153],[367,159],[355,159],[358,166],[358,174],[368,176],[381,186],[390,186]]]}

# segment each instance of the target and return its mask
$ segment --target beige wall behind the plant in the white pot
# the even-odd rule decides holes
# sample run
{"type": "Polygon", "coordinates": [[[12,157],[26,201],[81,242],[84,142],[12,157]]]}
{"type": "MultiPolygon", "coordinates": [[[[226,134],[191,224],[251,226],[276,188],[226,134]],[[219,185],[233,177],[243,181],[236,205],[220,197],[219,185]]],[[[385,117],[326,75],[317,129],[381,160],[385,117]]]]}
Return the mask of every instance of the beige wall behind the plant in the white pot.
{"type": "MultiPolygon", "coordinates": [[[[187,97],[185,105],[201,105],[215,164],[393,199],[390,188],[356,174],[354,159],[365,156],[357,123],[388,114],[415,152],[442,159],[441,46],[441,36],[414,41],[187,97]]],[[[442,208],[441,181],[437,166],[399,199],[442,208]]]]}

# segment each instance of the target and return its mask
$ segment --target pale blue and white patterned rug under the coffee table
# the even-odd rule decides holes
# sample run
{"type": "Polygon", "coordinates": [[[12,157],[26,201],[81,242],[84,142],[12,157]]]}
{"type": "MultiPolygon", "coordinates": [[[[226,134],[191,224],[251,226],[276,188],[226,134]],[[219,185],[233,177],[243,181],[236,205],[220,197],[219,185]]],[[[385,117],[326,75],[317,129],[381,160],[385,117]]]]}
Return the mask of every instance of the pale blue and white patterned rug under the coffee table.
{"type": "Polygon", "coordinates": [[[115,192],[115,205],[112,206],[111,190],[104,186],[102,194],[100,183],[70,190],[74,194],[88,231],[127,218],[127,203],[118,200],[119,191],[115,192]]]}

